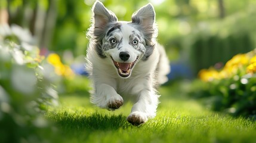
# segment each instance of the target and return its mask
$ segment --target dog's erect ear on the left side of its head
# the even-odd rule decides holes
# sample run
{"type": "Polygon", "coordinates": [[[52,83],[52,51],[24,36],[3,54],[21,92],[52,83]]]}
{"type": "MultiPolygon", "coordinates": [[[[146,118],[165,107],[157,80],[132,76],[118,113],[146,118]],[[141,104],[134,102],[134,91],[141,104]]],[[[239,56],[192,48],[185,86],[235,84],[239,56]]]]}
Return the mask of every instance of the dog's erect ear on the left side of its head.
{"type": "Polygon", "coordinates": [[[112,11],[107,10],[100,1],[95,1],[92,11],[94,13],[94,20],[92,22],[95,28],[104,29],[107,23],[118,21],[116,15],[112,11]]]}

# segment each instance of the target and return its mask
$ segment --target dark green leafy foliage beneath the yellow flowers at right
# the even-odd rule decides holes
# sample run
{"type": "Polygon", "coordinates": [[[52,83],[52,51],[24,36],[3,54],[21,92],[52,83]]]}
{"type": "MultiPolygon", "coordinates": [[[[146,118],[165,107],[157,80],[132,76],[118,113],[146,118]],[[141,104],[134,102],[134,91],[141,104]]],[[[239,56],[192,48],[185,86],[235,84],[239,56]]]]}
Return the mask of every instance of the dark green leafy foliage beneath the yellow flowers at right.
{"type": "Polygon", "coordinates": [[[190,95],[204,98],[207,107],[224,111],[234,116],[255,118],[256,116],[256,76],[234,76],[229,79],[202,82],[196,80],[190,95]]]}

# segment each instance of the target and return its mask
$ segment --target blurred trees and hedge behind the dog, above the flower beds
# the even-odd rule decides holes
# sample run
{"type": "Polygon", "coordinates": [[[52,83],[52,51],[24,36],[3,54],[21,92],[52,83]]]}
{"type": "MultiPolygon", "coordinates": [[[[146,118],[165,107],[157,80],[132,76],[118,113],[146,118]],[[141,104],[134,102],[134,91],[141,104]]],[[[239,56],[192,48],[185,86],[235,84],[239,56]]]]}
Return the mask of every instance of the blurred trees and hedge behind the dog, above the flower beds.
{"type": "MultiPolygon", "coordinates": [[[[254,49],[256,1],[149,0],[102,1],[119,20],[131,20],[151,2],[159,28],[158,42],[171,61],[170,79],[192,78],[209,66],[221,68],[240,52],[254,49]]],[[[29,29],[42,54],[60,54],[64,63],[86,54],[94,0],[1,0],[1,23],[29,29]]]]}

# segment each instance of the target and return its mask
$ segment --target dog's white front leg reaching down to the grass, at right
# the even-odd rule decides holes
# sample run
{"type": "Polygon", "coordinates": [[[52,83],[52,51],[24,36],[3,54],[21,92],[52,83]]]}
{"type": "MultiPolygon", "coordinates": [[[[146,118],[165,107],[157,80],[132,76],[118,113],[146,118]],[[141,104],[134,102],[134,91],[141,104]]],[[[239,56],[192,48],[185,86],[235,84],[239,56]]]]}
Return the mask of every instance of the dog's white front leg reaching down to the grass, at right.
{"type": "Polygon", "coordinates": [[[158,97],[159,95],[149,89],[141,91],[138,101],[132,106],[131,114],[127,118],[128,122],[138,126],[145,123],[147,119],[155,117],[158,97]]]}

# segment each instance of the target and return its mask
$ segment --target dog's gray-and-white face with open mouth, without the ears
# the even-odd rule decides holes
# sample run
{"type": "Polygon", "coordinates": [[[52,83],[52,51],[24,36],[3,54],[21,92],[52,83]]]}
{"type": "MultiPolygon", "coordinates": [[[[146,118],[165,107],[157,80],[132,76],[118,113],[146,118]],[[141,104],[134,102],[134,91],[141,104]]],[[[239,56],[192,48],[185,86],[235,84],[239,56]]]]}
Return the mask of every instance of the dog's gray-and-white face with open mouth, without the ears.
{"type": "Polygon", "coordinates": [[[138,58],[146,51],[143,35],[124,23],[116,23],[110,27],[103,38],[103,52],[113,60],[119,76],[128,77],[138,58]]]}

